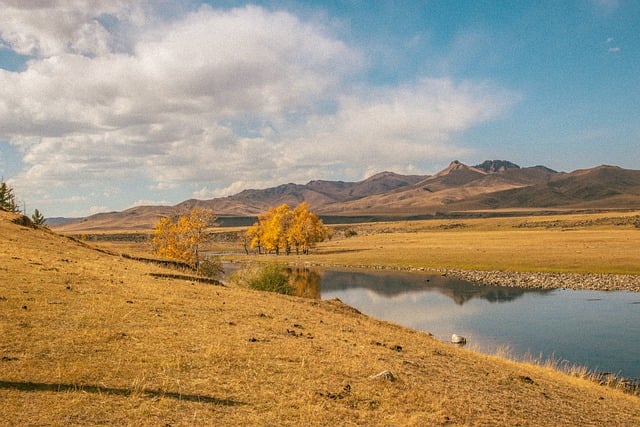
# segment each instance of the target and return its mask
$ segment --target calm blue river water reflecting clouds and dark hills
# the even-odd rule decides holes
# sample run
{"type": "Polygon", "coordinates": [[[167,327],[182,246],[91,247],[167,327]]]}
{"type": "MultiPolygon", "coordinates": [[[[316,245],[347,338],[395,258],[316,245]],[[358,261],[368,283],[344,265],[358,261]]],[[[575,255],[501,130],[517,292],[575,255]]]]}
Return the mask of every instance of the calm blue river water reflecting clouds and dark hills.
{"type": "MultiPolygon", "coordinates": [[[[515,357],[542,356],[640,378],[640,294],[475,286],[410,273],[307,272],[322,299],[515,357]]],[[[313,292],[311,292],[313,293],[313,292]]],[[[317,295],[316,295],[317,296],[317,295]]]]}

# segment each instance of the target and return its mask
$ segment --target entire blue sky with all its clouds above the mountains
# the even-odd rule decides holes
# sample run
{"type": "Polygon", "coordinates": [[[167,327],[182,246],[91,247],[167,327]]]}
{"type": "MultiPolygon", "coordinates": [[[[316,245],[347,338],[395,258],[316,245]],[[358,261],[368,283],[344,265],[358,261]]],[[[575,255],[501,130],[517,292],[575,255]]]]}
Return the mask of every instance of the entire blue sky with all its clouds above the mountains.
{"type": "Polygon", "coordinates": [[[0,175],[87,216],[487,159],[640,169],[640,2],[0,0],[0,175]]]}

